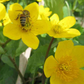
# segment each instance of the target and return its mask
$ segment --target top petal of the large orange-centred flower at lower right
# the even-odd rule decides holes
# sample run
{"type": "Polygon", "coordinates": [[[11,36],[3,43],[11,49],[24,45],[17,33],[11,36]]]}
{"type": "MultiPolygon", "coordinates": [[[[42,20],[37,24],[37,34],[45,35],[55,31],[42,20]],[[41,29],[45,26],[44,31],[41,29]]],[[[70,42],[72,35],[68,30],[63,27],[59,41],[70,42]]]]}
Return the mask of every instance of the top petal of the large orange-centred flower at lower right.
{"type": "Polygon", "coordinates": [[[61,41],[58,43],[57,50],[55,52],[55,58],[59,59],[63,56],[69,56],[72,52],[74,44],[71,40],[61,41]]]}

